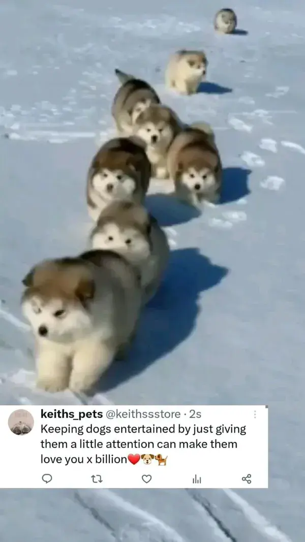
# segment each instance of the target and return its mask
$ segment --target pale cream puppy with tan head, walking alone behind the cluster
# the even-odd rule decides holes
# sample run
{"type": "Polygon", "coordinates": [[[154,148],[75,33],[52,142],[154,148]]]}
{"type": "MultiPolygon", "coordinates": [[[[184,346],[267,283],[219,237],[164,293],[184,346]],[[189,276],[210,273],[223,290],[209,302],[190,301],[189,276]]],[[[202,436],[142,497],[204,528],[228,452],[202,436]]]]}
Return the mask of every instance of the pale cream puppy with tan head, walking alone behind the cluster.
{"type": "Polygon", "coordinates": [[[206,78],[207,66],[208,61],[203,51],[177,51],[169,59],[166,86],[180,94],[195,94],[206,78]]]}

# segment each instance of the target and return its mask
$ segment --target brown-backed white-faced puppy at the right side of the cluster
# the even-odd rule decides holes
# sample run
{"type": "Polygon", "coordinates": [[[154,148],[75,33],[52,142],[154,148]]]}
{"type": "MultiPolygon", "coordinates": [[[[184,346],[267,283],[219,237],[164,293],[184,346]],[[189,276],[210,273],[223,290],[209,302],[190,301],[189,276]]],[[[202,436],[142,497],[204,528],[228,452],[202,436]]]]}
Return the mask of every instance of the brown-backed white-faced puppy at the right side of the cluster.
{"type": "Polygon", "coordinates": [[[201,129],[193,126],[180,132],[167,157],[177,197],[195,207],[203,200],[218,202],[223,171],[213,133],[202,130],[204,123],[198,126],[201,129]]]}

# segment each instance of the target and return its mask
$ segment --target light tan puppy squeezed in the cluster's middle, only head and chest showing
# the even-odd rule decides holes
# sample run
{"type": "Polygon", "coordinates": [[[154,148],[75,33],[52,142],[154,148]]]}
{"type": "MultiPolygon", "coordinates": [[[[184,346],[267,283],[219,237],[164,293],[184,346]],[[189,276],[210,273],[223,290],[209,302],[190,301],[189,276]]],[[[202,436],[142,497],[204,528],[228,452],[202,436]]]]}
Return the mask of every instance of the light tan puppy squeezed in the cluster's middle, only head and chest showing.
{"type": "Polygon", "coordinates": [[[181,121],[174,111],[164,105],[151,105],[136,119],[135,134],[146,144],[153,177],[168,177],[167,150],[181,127],[181,121]]]}

